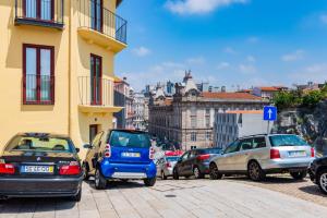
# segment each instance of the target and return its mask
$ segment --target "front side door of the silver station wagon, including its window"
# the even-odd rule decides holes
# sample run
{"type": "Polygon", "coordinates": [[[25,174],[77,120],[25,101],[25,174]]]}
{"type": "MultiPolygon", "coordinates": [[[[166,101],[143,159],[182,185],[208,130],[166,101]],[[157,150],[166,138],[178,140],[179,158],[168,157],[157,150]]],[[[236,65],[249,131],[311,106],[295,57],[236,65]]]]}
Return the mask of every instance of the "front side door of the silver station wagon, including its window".
{"type": "Polygon", "coordinates": [[[234,171],[235,156],[240,152],[240,142],[235,141],[230,144],[223,152],[222,157],[218,158],[218,169],[221,171],[234,171]]]}

